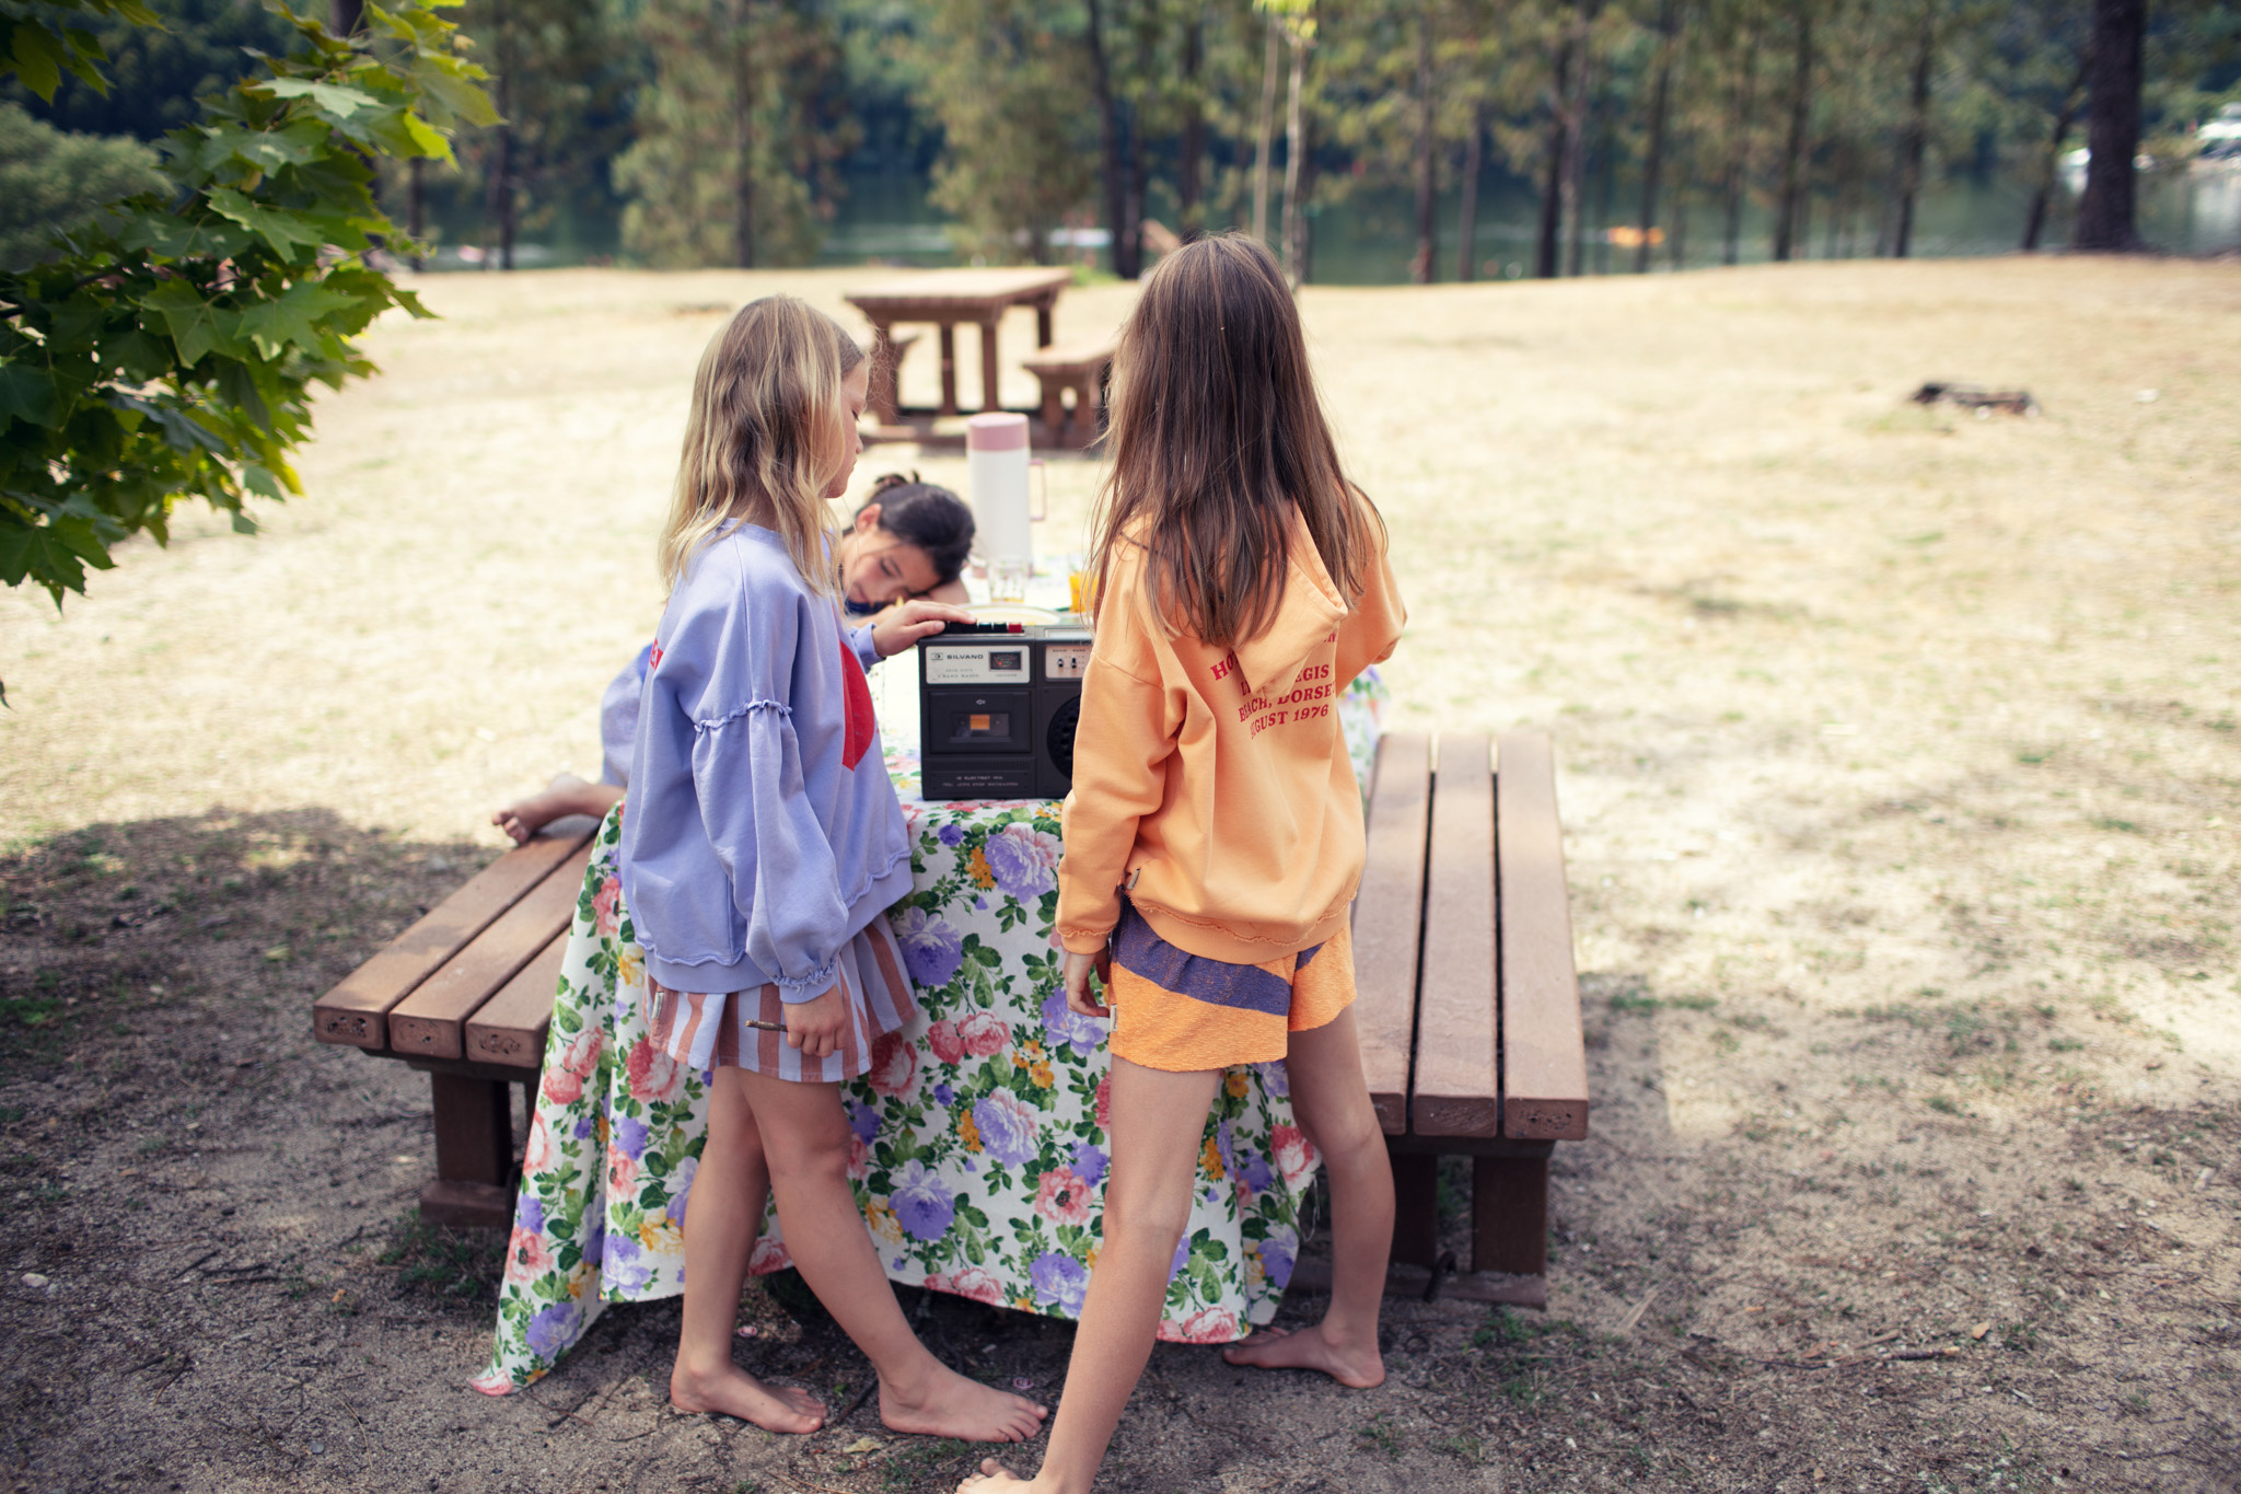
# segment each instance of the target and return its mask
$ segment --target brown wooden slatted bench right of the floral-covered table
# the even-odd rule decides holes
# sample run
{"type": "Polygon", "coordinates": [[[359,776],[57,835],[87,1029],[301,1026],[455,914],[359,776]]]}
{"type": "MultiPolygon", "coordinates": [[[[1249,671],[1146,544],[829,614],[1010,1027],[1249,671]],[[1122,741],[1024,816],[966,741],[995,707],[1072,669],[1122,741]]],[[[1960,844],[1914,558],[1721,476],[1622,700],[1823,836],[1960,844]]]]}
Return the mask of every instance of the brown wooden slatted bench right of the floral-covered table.
{"type": "Polygon", "coordinates": [[[1394,1263],[1441,1290],[1439,1158],[1468,1156],[1470,1274],[1445,1290],[1544,1306],[1549,1154],[1587,1136],[1587,1044],[1549,739],[1493,746],[1378,739],[1354,1010],[1394,1162],[1394,1263]]]}

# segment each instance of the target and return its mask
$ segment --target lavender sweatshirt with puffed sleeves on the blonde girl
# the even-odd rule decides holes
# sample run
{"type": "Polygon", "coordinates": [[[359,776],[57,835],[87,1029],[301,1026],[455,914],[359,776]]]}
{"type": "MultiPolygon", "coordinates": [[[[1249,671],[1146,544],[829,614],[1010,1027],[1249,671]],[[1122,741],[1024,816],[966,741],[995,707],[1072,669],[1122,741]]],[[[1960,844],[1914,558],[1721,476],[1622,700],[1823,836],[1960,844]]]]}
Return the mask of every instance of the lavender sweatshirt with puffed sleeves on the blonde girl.
{"type": "Polygon", "coordinates": [[[740,524],[670,594],[639,708],[623,896],[670,990],[822,995],[840,945],[910,894],[865,667],[769,529],[740,524]]]}

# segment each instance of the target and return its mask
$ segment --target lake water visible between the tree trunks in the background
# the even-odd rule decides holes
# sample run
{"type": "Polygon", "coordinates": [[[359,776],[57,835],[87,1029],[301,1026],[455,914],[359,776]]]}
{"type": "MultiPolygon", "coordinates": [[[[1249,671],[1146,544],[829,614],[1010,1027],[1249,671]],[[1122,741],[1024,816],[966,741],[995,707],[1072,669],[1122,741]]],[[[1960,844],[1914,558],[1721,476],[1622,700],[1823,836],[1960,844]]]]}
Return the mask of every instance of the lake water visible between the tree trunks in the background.
{"type": "MultiPolygon", "coordinates": [[[[1914,253],[1921,258],[1943,255],[1994,255],[2017,249],[2024,231],[2024,215],[2030,193],[2012,181],[1941,181],[1932,186],[1916,211],[1914,253]]],[[[1614,197],[1609,215],[1596,193],[1589,193],[1589,242],[1584,269],[1589,273],[1611,273],[1634,269],[1634,249],[1627,242],[1611,242],[1614,235],[1596,233],[1602,222],[1620,224],[1616,237],[1629,233],[1625,220],[1631,213],[1634,190],[1614,197]]],[[[1800,246],[1802,258],[1858,258],[1876,253],[1880,204],[1862,204],[1849,215],[1838,215],[1829,202],[1815,202],[1800,246]]],[[[2059,249],[2068,242],[2075,197],[2068,188],[2057,190],[2057,204],[2042,235],[2042,244],[2059,249]]],[[[1174,211],[1163,213],[1154,204],[1154,217],[1174,222],[1174,211]]],[[[1439,204],[1439,280],[1457,278],[1459,206],[1454,193],[1439,204]]],[[[1479,193],[1479,222],[1472,258],[1481,280],[1519,278],[1533,271],[1533,244],[1537,235],[1540,206],[1531,186],[1515,179],[1499,179],[1493,172],[1479,193]]],[[[1280,204],[1271,204],[1271,231],[1280,222],[1280,204]]],[[[921,177],[856,177],[847,197],[825,235],[818,264],[910,264],[939,267],[966,262],[950,240],[946,220],[926,202],[921,177]]],[[[1242,226],[1242,224],[1239,224],[1242,226]]],[[[1685,222],[1679,228],[1667,222],[1667,233],[1676,242],[1663,242],[1652,255],[1656,269],[1674,269],[1674,251],[1681,253],[1683,269],[1719,264],[1723,260],[1723,215],[1717,204],[1690,199],[1685,222]]],[[[1770,255],[1770,213],[1752,204],[1743,215],[1737,258],[1746,264],[1764,262],[1770,255]]],[[[2172,253],[2234,253],[2241,251],[2241,166],[2192,170],[2158,170],[2140,175],[2140,233],[2149,244],[2172,253]]],[[[446,237],[464,242],[457,233],[446,237]]],[[[1311,280],[1322,284],[1401,284],[1410,278],[1414,253],[1414,199],[1405,188],[1356,186],[1340,202],[1313,211],[1311,280]]],[[[473,262],[473,246],[444,249],[433,269],[482,269],[473,262]]],[[[515,246],[515,262],[524,269],[547,264],[583,264],[614,253],[612,224],[574,224],[554,242],[524,242],[515,246]]],[[[1053,258],[1087,258],[1091,249],[1062,246],[1053,258]]]]}

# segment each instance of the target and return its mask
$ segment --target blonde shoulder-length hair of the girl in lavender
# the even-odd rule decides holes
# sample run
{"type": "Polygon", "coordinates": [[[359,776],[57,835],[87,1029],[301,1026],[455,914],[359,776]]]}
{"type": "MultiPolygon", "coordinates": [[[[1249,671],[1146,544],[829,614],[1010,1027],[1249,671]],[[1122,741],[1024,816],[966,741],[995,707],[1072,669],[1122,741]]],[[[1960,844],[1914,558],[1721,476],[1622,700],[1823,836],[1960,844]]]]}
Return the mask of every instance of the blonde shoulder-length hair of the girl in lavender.
{"type": "Polygon", "coordinates": [[[847,452],[840,381],[858,363],[856,338],[793,296],[746,302],[708,340],[692,374],[670,517],[661,524],[668,587],[684,580],[726,522],[744,520],[778,531],[811,589],[838,594],[825,484],[847,452]]]}

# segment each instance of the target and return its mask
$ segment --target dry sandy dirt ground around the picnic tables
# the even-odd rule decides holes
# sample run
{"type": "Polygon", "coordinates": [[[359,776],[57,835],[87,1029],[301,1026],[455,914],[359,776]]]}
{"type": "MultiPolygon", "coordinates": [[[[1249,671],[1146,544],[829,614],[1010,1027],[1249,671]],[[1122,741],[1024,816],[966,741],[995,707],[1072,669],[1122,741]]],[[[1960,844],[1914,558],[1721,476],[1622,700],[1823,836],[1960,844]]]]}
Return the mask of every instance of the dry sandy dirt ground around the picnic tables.
{"type": "MultiPolygon", "coordinates": [[[[952,1487],[872,1413],[666,1411],[675,1304],[468,1391],[500,1241],[412,1223],[426,1084],[307,1021],[596,764],[719,311],[858,278],[430,280],[262,538],[0,598],[0,1478],[952,1487]]],[[[2241,264],[1304,305],[1412,603],[1396,719],[1555,737],[1593,1136],[1546,1313],[1394,1301],[1371,1393],[1161,1348],[1107,1487],[2241,1487],[2241,264]]],[[[1053,464],[1049,549],[1094,482],[1053,464]]],[[[1062,1384],[1062,1324],[908,1306],[1062,1384]]],[[[760,1373],[863,1384],[746,1308],[760,1373]]]]}

